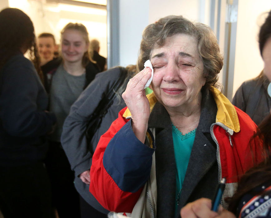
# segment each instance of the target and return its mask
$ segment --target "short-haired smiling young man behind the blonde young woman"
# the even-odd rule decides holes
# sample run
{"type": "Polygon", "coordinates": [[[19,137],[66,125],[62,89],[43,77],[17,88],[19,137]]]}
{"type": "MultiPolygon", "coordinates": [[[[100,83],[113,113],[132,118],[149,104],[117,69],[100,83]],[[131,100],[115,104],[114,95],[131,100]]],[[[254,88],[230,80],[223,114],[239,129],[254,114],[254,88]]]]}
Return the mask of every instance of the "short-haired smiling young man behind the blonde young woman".
{"type": "Polygon", "coordinates": [[[41,59],[41,69],[45,78],[44,87],[46,91],[49,92],[50,87],[47,81],[50,80],[52,76],[49,72],[56,69],[62,61],[61,58],[58,58],[59,46],[56,45],[55,37],[51,33],[41,33],[37,37],[37,46],[41,59]]]}

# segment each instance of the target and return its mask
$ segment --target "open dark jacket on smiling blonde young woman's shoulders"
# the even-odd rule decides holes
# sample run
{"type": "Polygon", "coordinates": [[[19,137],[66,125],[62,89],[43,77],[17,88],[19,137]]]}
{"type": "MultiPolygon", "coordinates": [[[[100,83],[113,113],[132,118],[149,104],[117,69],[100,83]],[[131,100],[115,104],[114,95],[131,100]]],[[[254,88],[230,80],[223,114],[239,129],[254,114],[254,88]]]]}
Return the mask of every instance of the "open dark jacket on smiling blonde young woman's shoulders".
{"type": "MultiPolygon", "coordinates": [[[[47,64],[43,65],[41,67],[42,73],[44,75],[44,86],[47,91],[47,93],[50,92],[51,82],[52,82],[52,76],[57,71],[57,68],[62,63],[62,58],[54,58],[53,60],[49,61],[47,64]]],[[[89,62],[86,65],[86,88],[88,84],[95,78],[96,74],[101,72],[97,64],[94,64],[92,62],[89,62]]]]}

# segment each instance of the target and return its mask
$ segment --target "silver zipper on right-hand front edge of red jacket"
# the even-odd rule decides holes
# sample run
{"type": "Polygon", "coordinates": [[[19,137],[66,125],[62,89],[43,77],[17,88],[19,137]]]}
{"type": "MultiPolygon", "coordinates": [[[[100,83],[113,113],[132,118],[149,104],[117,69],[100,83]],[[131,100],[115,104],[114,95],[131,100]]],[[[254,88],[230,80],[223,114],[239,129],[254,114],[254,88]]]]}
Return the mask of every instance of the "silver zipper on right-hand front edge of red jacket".
{"type": "MultiPolygon", "coordinates": [[[[220,127],[222,127],[224,130],[226,130],[226,133],[229,135],[229,142],[230,142],[230,145],[231,147],[233,147],[233,143],[232,143],[232,140],[231,140],[231,135],[233,135],[233,130],[226,127],[225,125],[223,125],[222,123],[220,122],[217,122],[217,123],[213,123],[210,127],[210,133],[211,133],[211,137],[213,139],[213,141],[215,142],[216,144],[216,161],[217,161],[217,164],[218,164],[218,183],[221,181],[222,179],[222,175],[221,175],[221,161],[220,161],[220,155],[219,155],[219,144],[216,140],[216,137],[214,135],[214,125],[218,125],[220,127]]],[[[221,205],[224,206],[224,199],[221,199],[221,205]]]]}

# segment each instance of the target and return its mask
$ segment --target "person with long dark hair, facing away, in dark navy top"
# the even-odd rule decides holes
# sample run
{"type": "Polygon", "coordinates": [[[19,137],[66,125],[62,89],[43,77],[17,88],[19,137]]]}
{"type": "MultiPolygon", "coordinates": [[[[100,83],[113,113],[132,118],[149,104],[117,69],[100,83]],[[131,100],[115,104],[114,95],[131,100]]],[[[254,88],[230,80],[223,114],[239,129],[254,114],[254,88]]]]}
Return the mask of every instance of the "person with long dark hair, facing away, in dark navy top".
{"type": "Polygon", "coordinates": [[[0,12],[0,210],[4,217],[51,217],[43,161],[56,117],[46,111],[34,27],[21,10],[0,12]],[[31,59],[24,57],[30,50],[31,59]]]}

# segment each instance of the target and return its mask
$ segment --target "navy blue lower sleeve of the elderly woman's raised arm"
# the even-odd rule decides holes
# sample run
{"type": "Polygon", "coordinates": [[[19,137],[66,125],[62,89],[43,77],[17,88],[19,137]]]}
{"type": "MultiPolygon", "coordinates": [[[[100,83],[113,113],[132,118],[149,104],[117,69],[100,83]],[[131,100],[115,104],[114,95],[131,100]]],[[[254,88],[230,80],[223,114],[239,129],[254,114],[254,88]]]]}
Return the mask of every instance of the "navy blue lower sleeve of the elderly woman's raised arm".
{"type": "Polygon", "coordinates": [[[122,191],[136,192],[150,176],[154,151],[136,138],[130,120],[107,145],[103,165],[122,191]]]}

